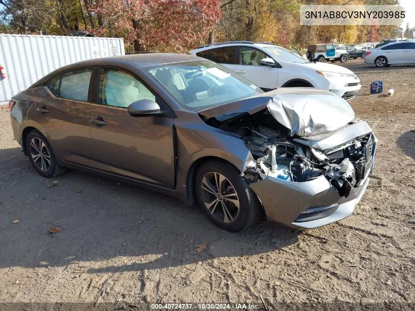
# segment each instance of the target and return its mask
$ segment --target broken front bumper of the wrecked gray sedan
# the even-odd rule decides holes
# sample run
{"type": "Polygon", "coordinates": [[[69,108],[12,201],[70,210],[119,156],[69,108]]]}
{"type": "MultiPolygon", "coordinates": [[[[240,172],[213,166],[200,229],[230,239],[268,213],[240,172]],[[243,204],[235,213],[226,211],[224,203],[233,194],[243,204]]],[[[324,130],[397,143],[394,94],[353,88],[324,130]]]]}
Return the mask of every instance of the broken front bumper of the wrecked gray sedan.
{"type": "Polygon", "coordinates": [[[365,177],[358,187],[352,188],[347,198],[340,197],[324,175],[305,182],[268,177],[251,184],[264,207],[267,221],[297,229],[311,229],[352,215],[366,191],[369,173],[373,170],[376,152],[374,136],[373,141],[372,158],[365,177]]]}

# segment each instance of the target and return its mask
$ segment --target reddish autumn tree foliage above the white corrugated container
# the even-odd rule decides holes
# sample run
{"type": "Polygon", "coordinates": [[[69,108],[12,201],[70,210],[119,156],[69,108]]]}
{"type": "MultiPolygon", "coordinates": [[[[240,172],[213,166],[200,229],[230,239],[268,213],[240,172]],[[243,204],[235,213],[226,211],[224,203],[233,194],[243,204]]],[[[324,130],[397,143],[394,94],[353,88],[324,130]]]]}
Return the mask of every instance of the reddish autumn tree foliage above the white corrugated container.
{"type": "Polygon", "coordinates": [[[205,41],[221,17],[218,0],[100,0],[93,10],[115,21],[136,52],[186,53],[205,41]]]}

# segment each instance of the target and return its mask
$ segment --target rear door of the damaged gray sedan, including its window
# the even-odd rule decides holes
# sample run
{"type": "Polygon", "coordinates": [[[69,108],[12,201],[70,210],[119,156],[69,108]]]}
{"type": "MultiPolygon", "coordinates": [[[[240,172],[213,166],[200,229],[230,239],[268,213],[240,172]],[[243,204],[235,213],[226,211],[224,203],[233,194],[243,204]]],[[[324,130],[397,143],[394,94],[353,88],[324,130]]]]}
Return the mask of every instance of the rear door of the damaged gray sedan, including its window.
{"type": "Polygon", "coordinates": [[[47,82],[36,99],[36,118],[54,152],[66,162],[95,168],[88,129],[93,68],[70,70],[47,82]]]}

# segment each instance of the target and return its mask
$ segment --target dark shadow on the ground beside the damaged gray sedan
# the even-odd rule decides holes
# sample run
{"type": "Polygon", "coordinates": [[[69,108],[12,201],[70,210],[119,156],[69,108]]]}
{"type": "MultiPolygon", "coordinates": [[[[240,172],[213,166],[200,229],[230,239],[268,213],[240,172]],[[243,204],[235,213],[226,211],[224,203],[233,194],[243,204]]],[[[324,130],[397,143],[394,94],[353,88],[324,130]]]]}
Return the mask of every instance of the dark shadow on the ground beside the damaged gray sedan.
{"type": "Polygon", "coordinates": [[[44,178],[22,148],[0,149],[0,180],[0,268],[76,263],[86,273],[161,269],[287,251],[300,234],[264,222],[228,232],[198,207],[81,171],[44,178]]]}

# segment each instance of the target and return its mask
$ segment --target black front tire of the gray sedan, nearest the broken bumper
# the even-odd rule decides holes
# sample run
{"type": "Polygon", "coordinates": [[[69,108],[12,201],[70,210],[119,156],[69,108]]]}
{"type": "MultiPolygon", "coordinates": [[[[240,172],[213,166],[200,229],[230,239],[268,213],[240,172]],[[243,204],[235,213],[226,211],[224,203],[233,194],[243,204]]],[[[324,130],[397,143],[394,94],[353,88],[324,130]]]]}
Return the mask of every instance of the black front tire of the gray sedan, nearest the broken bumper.
{"type": "MultiPolygon", "coordinates": [[[[218,180],[220,180],[220,178],[218,180]]],[[[261,211],[261,203],[259,202],[258,197],[255,195],[252,189],[249,188],[248,181],[242,177],[239,170],[237,170],[231,164],[220,161],[206,162],[196,172],[195,187],[200,208],[215,225],[221,227],[222,229],[228,231],[240,231],[252,226],[258,220],[261,211]],[[216,180],[216,174],[222,175],[222,177],[225,177],[226,179],[222,179],[220,185],[221,197],[217,195],[218,187],[209,182],[209,176],[214,177],[216,180]],[[205,186],[206,181],[209,183],[209,185],[211,185],[208,186],[209,189],[213,190],[213,192],[216,192],[216,195],[213,194],[213,192],[210,190],[205,190],[207,189],[205,186]],[[202,189],[202,185],[204,189],[202,189]],[[226,188],[225,186],[228,187],[226,188]],[[227,194],[225,188],[229,190],[229,194],[227,194]],[[209,196],[210,199],[207,198],[209,196]],[[239,209],[237,208],[236,204],[230,202],[225,198],[225,196],[228,198],[233,198],[233,201],[237,201],[239,209]],[[208,200],[207,203],[205,203],[206,200],[208,200]],[[216,203],[216,206],[215,204],[211,205],[211,210],[209,210],[206,204],[211,203],[211,201],[218,202],[216,203]],[[225,212],[223,203],[225,206],[227,206],[226,211],[230,210],[232,213],[228,214],[225,212]],[[217,207],[221,208],[216,210],[217,207]],[[236,211],[237,214],[235,213],[236,211]],[[226,215],[230,216],[221,216],[225,215],[225,213],[226,215]],[[234,218],[232,218],[232,216],[234,218]],[[228,222],[226,222],[226,220],[228,222]]]]}

